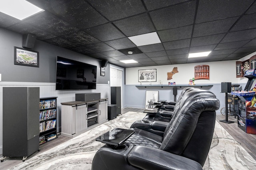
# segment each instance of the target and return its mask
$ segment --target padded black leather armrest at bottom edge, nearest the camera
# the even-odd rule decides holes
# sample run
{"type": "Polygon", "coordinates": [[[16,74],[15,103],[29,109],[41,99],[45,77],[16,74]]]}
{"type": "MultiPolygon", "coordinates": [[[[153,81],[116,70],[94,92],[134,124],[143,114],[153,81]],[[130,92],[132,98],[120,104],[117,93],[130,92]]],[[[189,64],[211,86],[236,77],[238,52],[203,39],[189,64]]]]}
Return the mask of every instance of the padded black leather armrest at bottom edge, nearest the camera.
{"type": "Polygon", "coordinates": [[[146,170],[202,170],[202,166],[191,159],[160,149],[137,145],[128,155],[128,162],[138,169],[146,170]]]}

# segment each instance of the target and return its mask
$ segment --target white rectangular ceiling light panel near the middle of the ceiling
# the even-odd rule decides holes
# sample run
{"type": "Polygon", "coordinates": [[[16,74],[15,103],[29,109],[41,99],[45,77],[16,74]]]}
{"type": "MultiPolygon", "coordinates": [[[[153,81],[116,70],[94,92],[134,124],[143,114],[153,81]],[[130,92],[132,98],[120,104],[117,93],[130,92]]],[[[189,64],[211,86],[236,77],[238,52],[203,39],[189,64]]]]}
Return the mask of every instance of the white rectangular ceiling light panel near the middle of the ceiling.
{"type": "Polygon", "coordinates": [[[137,46],[161,43],[156,32],[135,35],[128,38],[137,46]]]}

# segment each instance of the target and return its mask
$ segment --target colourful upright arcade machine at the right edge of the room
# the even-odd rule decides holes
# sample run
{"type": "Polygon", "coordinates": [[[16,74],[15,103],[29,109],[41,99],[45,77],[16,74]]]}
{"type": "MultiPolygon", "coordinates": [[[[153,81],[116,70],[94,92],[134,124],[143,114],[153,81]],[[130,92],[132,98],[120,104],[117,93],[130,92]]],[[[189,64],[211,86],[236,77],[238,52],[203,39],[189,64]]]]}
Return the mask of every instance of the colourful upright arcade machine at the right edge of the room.
{"type": "Polygon", "coordinates": [[[238,127],[246,133],[256,134],[256,68],[247,70],[248,82],[241,91],[231,92],[238,97],[238,127]]]}

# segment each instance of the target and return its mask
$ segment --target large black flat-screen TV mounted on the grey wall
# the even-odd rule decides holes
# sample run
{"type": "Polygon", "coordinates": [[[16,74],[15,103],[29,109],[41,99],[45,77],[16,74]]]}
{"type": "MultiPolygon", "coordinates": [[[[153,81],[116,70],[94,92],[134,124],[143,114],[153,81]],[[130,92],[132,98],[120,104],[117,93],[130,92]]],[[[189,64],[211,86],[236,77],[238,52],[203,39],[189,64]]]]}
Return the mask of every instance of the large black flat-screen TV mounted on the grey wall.
{"type": "Polygon", "coordinates": [[[97,66],[57,56],[56,90],[96,89],[97,66]]]}

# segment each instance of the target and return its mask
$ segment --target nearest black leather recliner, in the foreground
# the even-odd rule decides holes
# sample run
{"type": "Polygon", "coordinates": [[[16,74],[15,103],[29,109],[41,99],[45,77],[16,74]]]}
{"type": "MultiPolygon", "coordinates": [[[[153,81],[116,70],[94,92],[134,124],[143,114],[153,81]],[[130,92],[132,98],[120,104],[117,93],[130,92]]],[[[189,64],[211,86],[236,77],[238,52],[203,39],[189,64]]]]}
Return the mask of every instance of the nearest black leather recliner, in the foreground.
{"type": "Polygon", "coordinates": [[[92,170],[202,170],[219,107],[216,98],[192,98],[162,135],[130,128],[135,133],[123,145],[104,145],[96,152],[92,170]]]}

